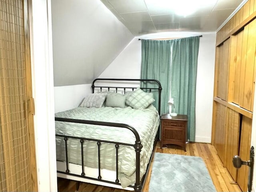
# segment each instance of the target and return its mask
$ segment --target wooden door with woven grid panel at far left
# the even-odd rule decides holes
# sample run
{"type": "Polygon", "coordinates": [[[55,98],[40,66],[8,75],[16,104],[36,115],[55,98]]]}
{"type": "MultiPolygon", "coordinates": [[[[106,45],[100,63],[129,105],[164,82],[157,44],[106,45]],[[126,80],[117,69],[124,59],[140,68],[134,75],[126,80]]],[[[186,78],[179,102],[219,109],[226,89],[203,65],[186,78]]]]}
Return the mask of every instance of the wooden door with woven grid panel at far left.
{"type": "Polygon", "coordinates": [[[0,0],[0,191],[37,191],[26,0],[0,0]]]}

